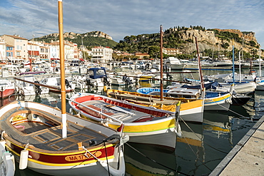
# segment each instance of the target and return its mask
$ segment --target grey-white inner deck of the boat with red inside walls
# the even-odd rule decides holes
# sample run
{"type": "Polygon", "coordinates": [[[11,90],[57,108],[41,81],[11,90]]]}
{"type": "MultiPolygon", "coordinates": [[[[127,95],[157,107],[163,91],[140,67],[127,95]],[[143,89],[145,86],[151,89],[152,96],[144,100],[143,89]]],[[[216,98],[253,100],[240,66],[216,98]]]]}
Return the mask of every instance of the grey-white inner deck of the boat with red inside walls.
{"type": "MultiPolygon", "coordinates": [[[[148,113],[139,112],[138,110],[132,110],[128,108],[122,108],[116,105],[111,105],[109,103],[105,103],[103,100],[89,100],[86,102],[81,103],[82,105],[86,105],[86,107],[82,107],[81,105],[78,105],[78,108],[80,108],[83,111],[86,111],[86,113],[91,114],[91,109],[98,110],[103,115],[109,115],[112,118],[116,118],[117,120],[121,120],[124,123],[133,123],[137,122],[139,119],[148,119],[153,120],[155,117],[155,120],[158,119],[158,117],[154,115],[150,115],[148,113]]],[[[94,115],[94,113],[92,113],[94,115]]],[[[98,116],[100,118],[101,116],[98,116]]]]}

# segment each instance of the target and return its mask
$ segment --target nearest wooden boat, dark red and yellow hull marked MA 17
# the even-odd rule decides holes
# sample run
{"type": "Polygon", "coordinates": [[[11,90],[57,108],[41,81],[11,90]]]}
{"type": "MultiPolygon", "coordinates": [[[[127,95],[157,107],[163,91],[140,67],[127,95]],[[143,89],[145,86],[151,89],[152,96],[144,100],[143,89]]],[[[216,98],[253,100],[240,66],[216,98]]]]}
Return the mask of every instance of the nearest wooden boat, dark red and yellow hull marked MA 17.
{"type": "Polygon", "coordinates": [[[46,175],[108,175],[107,167],[111,175],[125,172],[116,130],[66,114],[68,136],[62,138],[57,108],[14,101],[0,112],[2,138],[21,169],[46,175]]]}

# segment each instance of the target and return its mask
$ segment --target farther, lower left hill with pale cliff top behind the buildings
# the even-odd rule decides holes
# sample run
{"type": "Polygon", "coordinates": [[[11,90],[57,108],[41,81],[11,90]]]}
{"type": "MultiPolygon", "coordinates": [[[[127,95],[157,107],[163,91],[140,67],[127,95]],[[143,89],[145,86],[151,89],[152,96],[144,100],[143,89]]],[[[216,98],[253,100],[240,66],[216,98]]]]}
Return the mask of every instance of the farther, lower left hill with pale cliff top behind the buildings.
{"type": "MultiPolygon", "coordinates": [[[[64,33],[64,39],[67,41],[71,41],[73,43],[77,43],[78,46],[108,46],[113,48],[116,46],[117,42],[112,40],[111,36],[108,36],[106,33],[101,31],[92,31],[88,33],[73,33],[66,32],[64,33]],[[83,40],[81,40],[83,38],[83,40]]],[[[34,38],[36,41],[45,41],[50,43],[51,40],[56,41],[59,40],[59,33],[51,33],[46,36],[41,36],[39,38],[34,38]]]]}

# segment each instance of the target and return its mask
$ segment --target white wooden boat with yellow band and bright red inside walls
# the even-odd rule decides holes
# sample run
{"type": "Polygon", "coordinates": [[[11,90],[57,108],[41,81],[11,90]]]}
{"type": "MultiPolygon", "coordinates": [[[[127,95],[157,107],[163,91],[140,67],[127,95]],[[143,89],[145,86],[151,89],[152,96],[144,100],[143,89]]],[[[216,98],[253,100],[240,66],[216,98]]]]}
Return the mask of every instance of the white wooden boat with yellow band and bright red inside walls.
{"type": "MultiPolygon", "coordinates": [[[[69,99],[69,104],[83,117],[101,121],[110,128],[117,129],[122,122],[123,133],[129,135],[129,142],[175,150],[176,135],[180,133],[175,112],[91,93],[76,93],[69,99]]],[[[176,106],[179,110],[179,102],[174,109],[176,106]]]]}

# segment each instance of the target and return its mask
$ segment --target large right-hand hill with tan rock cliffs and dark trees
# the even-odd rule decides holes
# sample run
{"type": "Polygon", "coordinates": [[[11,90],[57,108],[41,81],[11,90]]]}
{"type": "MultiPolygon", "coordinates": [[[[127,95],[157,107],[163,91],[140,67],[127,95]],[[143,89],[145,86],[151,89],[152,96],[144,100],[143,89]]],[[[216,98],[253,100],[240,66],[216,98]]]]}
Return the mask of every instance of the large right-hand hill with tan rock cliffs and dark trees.
{"type": "MultiPolygon", "coordinates": [[[[196,56],[195,37],[198,40],[199,53],[203,56],[225,55],[232,57],[233,39],[235,53],[243,48],[243,56],[255,57],[258,55],[258,44],[255,33],[241,32],[237,29],[205,29],[202,26],[184,26],[167,29],[163,33],[163,48],[178,48],[183,53],[183,58],[196,56]],[[253,55],[253,56],[250,56],[253,55]]],[[[117,50],[133,53],[140,51],[149,53],[151,57],[160,55],[160,34],[150,33],[138,36],[126,36],[116,45],[117,50]]],[[[242,51],[241,51],[242,52],[242,51]]]]}

